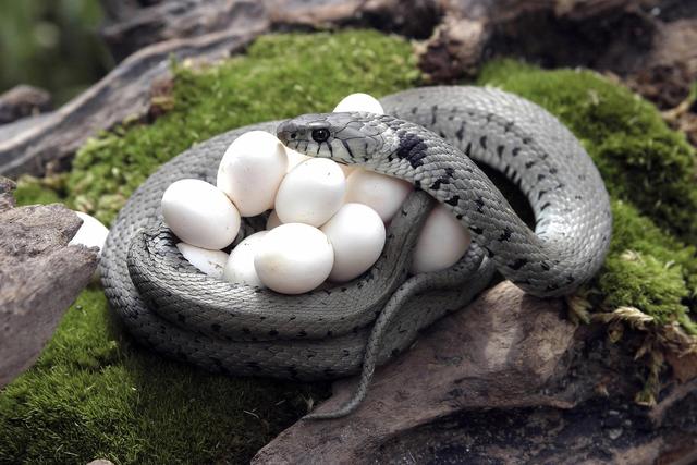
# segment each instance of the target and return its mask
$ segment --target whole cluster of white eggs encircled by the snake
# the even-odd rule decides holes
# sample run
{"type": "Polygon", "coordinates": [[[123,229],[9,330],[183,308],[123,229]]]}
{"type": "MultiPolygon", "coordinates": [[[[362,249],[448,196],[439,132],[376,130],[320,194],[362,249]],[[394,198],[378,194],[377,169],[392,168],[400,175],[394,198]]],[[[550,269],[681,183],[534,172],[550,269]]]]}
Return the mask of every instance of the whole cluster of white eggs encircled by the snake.
{"type": "MultiPolygon", "coordinates": [[[[375,98],[353,94],[334,111],[382,113],[375,98]]],[[[194,267],[231,283],[283,294],[311,291],[326,281],[357,278],[380,256],[386,224],[412,191],[405,181],[283,146],[250,131],[225,150],[216,185],[185,179],[162,196],[162,217],[194,267]],[[237,236],[241,217],[271,210],[266,231],[222,252],[237,236]]],[[[468,232],[442,206],[419,236],[412,272],[445,269],[469,246],[468,232]]]]}

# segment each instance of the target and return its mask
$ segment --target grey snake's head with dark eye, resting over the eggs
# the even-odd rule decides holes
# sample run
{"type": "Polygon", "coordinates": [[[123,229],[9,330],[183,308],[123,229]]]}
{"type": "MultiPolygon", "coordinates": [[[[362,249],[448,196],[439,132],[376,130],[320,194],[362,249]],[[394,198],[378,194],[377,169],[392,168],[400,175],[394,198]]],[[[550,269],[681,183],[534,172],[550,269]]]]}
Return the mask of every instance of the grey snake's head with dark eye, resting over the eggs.
{"type": "Polygon", "coordinates": [[[367,112],[303,114],[282,122],[277,137],[309,157],[370,167],[379,164],[399,143],[390,120],[393,118],[367,112]]]}

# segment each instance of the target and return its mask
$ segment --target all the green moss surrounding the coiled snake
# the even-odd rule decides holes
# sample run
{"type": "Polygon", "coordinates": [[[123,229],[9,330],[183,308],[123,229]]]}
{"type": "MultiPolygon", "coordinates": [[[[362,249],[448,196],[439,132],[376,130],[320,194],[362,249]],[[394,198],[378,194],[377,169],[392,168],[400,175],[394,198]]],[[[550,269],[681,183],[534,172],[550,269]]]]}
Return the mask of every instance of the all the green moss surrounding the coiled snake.
{"type": "MultiPolygon", "coordinates": [[[[21,203],[56,201],[109,223],[133,189],[193,143],[255,121],[327,111],[344,95],[419,83],[404,40],[377,33],[265,37],[203,71],[176,65],[168,112],[90,140],[73,170],[20,183],[21,203]],[[293,59],[289,59],[293,57],[293,59]],[[339,57],[339,58],[338,58],[339,57]]],[[[591,72],[488,65],[479,84],[537,101],[564,121],[600,168],[614,234],[585,290],[595,311],[636,307],[695,332],[695,156],[649,103],[591,72]],[[688,245],[692,244],[692,245],[688,245]]],[[[313,388],[209,375],[144,351],[109,316],[98,287],[71,307],[37,365],[0,395],[0,462],[247,460],[305,412],[313,388]]]]}

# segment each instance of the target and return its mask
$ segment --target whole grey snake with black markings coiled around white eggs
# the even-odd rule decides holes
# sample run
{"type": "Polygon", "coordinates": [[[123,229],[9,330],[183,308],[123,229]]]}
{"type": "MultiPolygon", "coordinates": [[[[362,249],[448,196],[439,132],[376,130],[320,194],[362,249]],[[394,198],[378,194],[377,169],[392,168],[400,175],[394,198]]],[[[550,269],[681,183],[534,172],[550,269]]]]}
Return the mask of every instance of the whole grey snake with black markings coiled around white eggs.
{"type": "MultiPolygon", "coordinates": [[[[119,212],[100,259],[110,307],[129,331],[169,357],[232,376],[319,380],[359,372],[342,407],[305,417],[337,418],[359,405],[376,366],[465,306],[496,272],[538,297],[572,294],[598,272],[612,233],[609,196],[583,145],[555,117],[491,87],[421,87],[380,102],[384,114],[313,113],[232,130],[148,178],[119,212]],[[225,148],[252,130],[276,134],[301,154],[414,185],[368,271],[281,295],[213,279],[182,257],[162,220],[164,189],[186,178],[215,183],[225,148]],[[534,228],[478,163],[517,185],[534,228]],[[467,229],[472,245],[447,270],[412,274],[418,233],[436,204],[467,229]]],[[[236,242],[262,223],[244,219],[236,242]]]]}

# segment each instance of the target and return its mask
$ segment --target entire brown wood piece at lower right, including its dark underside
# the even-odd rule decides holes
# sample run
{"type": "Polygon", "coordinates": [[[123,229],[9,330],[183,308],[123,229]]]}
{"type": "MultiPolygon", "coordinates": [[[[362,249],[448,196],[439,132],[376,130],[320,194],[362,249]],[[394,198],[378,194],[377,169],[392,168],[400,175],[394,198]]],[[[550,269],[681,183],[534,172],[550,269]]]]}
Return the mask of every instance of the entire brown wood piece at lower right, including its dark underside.
{"type": "MultiPolygon", "coordinates": [[[[355,413],[301,420],[253,463],[693,463],[697,379],[640,407],[632,351],[564,315],[500,283],[379,368],[355,413]]],[[[334,383],[318,411],[355,383],[334,383]]]]}

